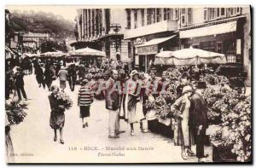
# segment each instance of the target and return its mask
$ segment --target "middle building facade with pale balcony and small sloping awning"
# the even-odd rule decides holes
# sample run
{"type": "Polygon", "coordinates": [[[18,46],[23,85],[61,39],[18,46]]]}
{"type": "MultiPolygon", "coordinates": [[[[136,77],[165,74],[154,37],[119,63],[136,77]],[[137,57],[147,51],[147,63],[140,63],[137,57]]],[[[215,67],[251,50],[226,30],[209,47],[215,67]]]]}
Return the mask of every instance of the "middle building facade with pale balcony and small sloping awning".
{"type": "Polygon", "coordinates": [[[178,18],[177,8],[126,9],[125,39],[134,67],[147,71],[160,50],[178,49],[178,18]]]}

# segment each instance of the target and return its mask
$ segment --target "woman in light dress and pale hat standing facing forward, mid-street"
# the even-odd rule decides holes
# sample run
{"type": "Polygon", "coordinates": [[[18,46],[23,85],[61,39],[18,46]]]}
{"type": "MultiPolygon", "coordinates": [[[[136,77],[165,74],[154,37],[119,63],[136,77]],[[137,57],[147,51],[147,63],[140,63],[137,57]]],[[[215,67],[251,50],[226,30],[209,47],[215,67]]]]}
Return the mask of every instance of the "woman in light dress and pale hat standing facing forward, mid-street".
{"type": "Polygon", "coordinates": [[[144,119],[143,102],[140,97],[141,86],[138,83],[138,72],[133,70],[131,78],[125,83],[125,113],[127,113],[128,123],[131,125],[131,136],[135,135],[134,123],[140,123],[144,119]]]}

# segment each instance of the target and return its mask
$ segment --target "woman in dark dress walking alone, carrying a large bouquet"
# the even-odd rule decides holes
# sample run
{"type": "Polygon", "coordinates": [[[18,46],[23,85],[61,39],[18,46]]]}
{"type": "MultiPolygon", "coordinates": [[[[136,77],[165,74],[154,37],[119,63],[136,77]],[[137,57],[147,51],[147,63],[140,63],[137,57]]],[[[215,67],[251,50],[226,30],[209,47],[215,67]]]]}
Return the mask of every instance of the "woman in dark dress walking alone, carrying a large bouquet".
{"type": "Polygon", "coordinates": [[[57,100],[57,94],[59,88],[55,85],[51,86],[52,93],[49,95],[49,105],[50,105],[50,117],[49,117],[49,126],[55,131],[54,142],[57,141],[57,130],[60,130],[60,142],[64,144],[63,140],[63,127],[65,123],[65,107],[60,105],[57,100]]]}

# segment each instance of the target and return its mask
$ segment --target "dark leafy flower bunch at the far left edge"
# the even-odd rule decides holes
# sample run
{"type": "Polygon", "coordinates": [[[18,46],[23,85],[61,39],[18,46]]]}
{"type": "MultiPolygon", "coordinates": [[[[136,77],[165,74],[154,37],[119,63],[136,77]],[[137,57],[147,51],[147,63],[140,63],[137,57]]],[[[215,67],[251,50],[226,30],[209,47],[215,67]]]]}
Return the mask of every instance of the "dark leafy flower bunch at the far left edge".
{"type": "Polygon", "coordinates": [[[18,125],[26,117],[27,104],[24,101],[5,102],[5,110],[10,125],[18,125]]]}

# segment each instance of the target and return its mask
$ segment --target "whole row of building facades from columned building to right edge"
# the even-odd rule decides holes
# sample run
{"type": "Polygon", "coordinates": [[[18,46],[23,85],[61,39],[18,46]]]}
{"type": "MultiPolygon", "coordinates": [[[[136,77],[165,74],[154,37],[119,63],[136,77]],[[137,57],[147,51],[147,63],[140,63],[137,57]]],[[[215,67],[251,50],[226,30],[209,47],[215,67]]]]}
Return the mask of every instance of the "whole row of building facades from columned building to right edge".
{"type": "Polygon", "coordinates": [[[250,85],[249,6],[79,9],[77,31],[76,49],[99,49],[143,71],[161,50],[191,46],[223,53],[228,62],[244,65],[250,85]]]}

